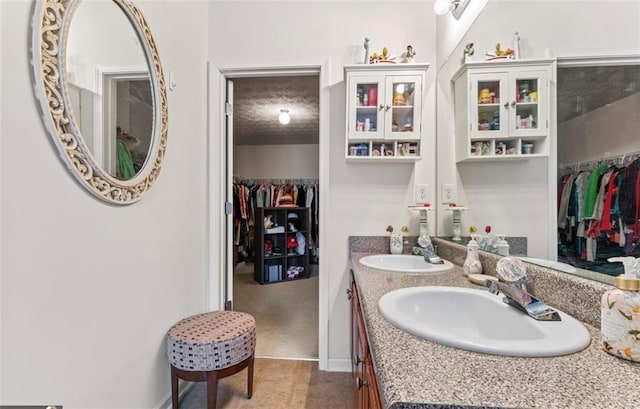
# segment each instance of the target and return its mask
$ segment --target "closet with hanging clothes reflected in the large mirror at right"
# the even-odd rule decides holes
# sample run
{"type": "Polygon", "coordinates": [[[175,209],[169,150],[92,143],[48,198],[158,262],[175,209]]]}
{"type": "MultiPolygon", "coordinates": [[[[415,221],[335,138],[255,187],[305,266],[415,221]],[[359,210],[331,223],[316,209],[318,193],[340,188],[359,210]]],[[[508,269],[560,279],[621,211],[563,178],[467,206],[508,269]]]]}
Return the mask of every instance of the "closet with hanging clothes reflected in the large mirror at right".
{"type": "Polygon", "coordinates": [[[640,65],[558,68],[558,260],[640,256],[640,65]]]}

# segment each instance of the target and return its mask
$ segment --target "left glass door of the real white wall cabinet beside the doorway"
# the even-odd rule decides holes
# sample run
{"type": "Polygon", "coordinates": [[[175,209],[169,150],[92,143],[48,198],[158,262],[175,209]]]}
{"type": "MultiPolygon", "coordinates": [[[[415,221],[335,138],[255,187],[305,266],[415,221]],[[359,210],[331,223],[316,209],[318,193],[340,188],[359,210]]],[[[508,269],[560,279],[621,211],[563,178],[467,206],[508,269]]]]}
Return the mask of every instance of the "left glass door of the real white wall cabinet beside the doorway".
{"type": "Polygon", "coordinates": [[[349,102],[349,139],[381,139],[384,116],[380,95],[380,77],[361,77],[351,82],[349,95],[355,96],[349,102]]]}

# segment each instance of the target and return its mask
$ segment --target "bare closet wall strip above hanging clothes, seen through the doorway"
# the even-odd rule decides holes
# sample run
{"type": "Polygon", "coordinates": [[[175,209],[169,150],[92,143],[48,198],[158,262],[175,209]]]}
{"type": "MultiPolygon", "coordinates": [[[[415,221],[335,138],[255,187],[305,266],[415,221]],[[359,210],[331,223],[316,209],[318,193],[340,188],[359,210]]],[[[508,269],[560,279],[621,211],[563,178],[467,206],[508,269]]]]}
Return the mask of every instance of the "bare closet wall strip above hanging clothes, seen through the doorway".
{"type": "Polygon", "coordinates": [[[248,179],[319,177],[319,146],[235,145],[233,175],[248,179]]]}

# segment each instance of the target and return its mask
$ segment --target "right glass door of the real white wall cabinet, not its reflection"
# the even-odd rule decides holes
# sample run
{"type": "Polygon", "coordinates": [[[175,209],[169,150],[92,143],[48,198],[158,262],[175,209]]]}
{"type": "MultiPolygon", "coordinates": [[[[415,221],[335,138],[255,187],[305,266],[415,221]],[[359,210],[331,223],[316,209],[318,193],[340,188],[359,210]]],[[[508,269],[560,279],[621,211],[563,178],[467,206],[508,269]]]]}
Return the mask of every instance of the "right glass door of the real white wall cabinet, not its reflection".
{"type": "Polygon", "coordinates": [[[422,78],[393,76],[385,89],[385,135],[393,139],[419,139],[421,123],[422,78]]]}

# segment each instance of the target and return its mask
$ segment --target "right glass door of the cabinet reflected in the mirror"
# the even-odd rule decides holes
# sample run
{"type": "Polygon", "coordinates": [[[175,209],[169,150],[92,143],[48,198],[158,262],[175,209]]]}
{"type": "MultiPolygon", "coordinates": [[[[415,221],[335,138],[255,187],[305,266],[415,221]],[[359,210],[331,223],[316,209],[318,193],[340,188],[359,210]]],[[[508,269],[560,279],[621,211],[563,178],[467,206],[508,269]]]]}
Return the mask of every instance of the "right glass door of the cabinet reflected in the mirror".
{"type": "Polygon", "coordinates": [[[544,72],[518,72],[511,74],[510,132],[514,135],[540,135],[546,130],[547,118],[543,102],[546,100],[546,74],[544,72]]]}

